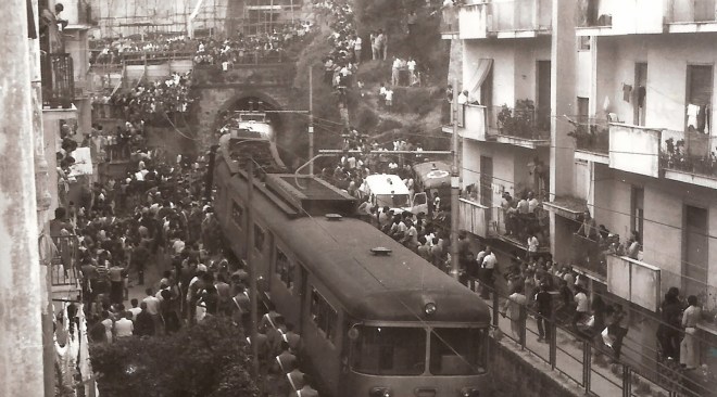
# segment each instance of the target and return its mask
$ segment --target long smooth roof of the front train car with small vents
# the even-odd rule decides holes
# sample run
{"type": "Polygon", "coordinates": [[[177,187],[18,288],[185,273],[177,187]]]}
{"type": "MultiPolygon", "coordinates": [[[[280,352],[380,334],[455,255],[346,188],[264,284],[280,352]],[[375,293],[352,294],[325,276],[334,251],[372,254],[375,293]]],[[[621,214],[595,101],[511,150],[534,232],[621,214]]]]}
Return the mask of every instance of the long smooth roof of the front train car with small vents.
{"type": "MultiPolygon", "coordinates": [[[[243,195],[247,180],[232,177],[243,195]]],[[[266,189],[255,190],[255,217],[326,285],[353,318],[363,321],[488,323],[488,306],[475,293],[370,223],[353,218],[290,217],[266,189]],[[388,256],[372,248],[391,249],[388,256]],[[426,303],[437,311],[424,313],[426,303]]]]}

